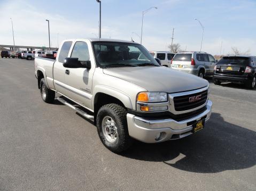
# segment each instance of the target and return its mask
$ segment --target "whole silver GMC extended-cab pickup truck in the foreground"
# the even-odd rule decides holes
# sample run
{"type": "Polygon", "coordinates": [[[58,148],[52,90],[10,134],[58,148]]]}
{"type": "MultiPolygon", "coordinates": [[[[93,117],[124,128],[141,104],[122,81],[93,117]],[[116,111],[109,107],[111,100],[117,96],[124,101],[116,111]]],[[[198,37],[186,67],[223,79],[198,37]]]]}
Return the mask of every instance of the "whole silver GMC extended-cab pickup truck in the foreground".
{"type": "Polygon", "coordinates": [[[201,130],[211,115],[209,84],[161,67],[141,44],[114,39],[70,39],[56,60],[36,57],[44,102],[58,101],[94,120],[112,152],[134,139],[158,143],[201,130]],[[81,109],[82,108],[82,109],[81,109]]]}

